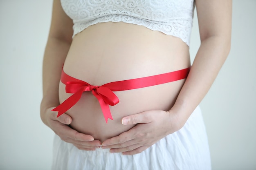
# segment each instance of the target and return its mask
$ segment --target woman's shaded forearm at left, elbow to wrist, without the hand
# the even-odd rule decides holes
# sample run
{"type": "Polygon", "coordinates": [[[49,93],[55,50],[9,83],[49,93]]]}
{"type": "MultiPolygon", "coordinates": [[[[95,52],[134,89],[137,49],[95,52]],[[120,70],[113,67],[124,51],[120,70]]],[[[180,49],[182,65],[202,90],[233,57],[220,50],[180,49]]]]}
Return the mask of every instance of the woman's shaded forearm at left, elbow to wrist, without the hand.
{"type": "Polygon", "coordinates": [[[43,99],[40,106],[40,115],[43,122],[45,109],[57,106],[58,86],[61,77],[61,68],[70,48],[70,43],[49,37],[43,59],[43,99]]]}

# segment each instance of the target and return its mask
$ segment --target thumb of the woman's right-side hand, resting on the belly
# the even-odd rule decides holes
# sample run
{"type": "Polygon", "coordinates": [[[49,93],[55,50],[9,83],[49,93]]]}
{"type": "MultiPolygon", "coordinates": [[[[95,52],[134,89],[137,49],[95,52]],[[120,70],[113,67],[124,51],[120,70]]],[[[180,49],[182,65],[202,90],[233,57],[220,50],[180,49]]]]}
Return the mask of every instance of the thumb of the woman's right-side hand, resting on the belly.
{"type": "Polygon", "coordinates": [[[150,123],[151,121],[152,119],[150,119],[150,114],[148,112],[142,112],[135,115],[123,117],[122,124],[132,125],[132,124],[150,123]]]}

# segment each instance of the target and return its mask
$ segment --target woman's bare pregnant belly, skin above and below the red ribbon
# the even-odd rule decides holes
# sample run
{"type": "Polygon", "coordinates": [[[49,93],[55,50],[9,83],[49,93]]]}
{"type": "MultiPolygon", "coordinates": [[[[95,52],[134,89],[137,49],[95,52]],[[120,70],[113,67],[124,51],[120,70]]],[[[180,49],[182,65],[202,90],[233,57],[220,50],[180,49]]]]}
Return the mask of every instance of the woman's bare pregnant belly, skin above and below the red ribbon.
{"type": "MultiPolygon", "coordinates": [[[[106,22],[89,26],[73,38],[63,69],[72,77],[100,86],[189,66],[189,47],[180,38],[135,24],[106,22]]],[[[108,124],[91,92],[83,93],[66,113],[72,117],[72,128],[104,141],[132,128],[121,124],[124,116],[146,110],[169,110],[184,81],[115,92],[120,102],[110,106],[114,120],[109,119],[108,124]]],[[[60,102],[70,95],[60,82],[60,102]]]]}

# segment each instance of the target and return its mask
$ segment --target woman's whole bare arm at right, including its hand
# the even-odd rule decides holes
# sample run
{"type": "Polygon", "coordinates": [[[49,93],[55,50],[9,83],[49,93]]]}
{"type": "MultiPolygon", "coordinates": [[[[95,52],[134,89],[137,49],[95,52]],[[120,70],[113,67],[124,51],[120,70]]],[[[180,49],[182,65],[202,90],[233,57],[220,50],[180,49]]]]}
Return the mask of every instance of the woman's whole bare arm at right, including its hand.
{"type": "Polygon", "coordinates": [[[124,117],[123,124],[137,126],[107,139],[102,148],[111,148],[111,152],[125,155],[142,152],[182,128],[208,92],[230,50],[232,1],[195,0],[195,3],[201,45],[173,108],[168,112],[149,110],[124,117]]]}

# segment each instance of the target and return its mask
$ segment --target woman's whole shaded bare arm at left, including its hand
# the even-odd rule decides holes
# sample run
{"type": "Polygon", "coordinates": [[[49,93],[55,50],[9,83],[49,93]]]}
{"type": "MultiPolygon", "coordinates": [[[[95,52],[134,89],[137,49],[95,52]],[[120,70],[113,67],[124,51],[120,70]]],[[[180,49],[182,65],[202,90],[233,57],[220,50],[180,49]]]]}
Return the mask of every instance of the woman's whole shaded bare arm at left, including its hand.
{"type": "Polygon", "coordinates": [[[72,121],[69,115],[64,113],[57,118],[57,112],[51,111],[59,105],[58,87],[62,65],[72,42],[72,25],[72,20],[63,11],[60,0],[54,0],[52,23],[43,59],[43,99],[40,116],[63,141],[72,143],[79,149],[95,150],[100,146],[100,141],[67,126],[72,121]]]}

